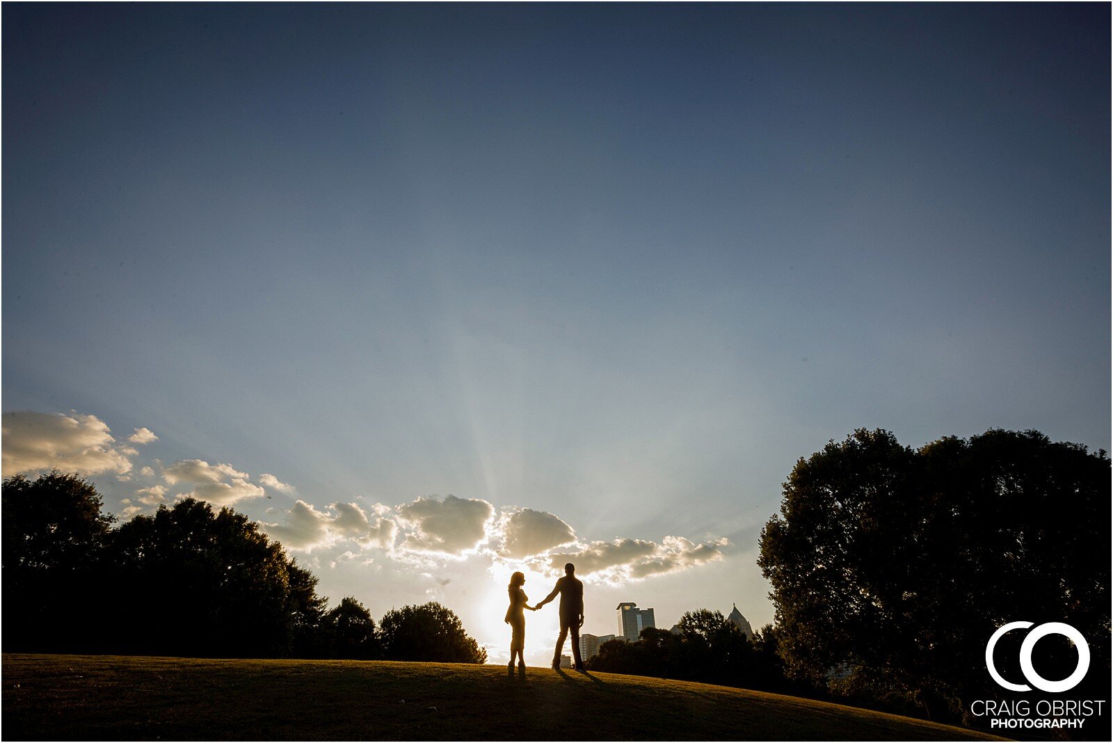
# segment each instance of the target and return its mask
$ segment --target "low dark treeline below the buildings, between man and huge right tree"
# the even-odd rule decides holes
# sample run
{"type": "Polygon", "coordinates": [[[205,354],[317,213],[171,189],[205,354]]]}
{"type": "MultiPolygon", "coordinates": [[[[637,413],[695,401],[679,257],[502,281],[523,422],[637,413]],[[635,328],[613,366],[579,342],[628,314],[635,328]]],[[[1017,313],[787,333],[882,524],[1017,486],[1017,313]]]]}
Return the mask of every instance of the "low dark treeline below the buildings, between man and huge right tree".
{"type": "Polygon", "coordinates": [[[637,642],[605,642],[588,670],[814,695],[809,684],[785,677],[771,625],[751,642],[721,612],[700,608],[686,613],[678,630],[649,627],[637,642]]]}

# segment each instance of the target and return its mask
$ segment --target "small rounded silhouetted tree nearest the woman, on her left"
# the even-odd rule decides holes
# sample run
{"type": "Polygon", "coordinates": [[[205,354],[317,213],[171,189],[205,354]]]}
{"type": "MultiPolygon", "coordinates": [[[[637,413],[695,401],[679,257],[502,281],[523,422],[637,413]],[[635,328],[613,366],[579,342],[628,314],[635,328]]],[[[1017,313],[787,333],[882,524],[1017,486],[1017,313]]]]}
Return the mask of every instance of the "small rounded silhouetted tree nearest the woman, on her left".
{"type": "Polygon", "coordinates": [[[378,637],[392,661],[486,662],[486,651],[467,636],[460,617],[436,602],[392,608],[380,622],[378,637]]]}

